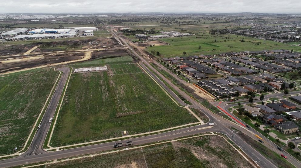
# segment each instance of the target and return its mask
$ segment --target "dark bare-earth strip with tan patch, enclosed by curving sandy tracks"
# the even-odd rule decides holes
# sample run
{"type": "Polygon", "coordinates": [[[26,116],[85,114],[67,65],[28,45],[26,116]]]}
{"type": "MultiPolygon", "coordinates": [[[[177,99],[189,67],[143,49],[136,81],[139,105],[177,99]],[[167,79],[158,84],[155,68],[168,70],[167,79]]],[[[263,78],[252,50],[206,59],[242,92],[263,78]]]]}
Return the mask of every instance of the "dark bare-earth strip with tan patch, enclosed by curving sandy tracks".
{"type": "Polygon", "coordinates": [[[84,53],[60,53],[49,56],[25,57],[15,59],[0,60],[0,73],[20,70],[24,68],[37,67],[51,63],[60,63],[70,60],[78,60],[84,57],[84,53]]]}

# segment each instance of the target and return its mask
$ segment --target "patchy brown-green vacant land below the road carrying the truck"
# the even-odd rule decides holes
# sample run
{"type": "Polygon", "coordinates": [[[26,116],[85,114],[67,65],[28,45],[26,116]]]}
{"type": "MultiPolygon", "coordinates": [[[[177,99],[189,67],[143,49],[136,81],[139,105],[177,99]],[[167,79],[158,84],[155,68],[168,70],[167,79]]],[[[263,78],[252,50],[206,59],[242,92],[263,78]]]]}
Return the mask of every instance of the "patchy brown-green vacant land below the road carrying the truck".
{"type": "MultiPolygon", "coordinates": [[[[142,148],[149,168],[249,168],[252,165],[224,139],[210,135],[142,148]],[[231,157],[229,157],[231,156],[231,157]]],[[[42,167],[145,168],[141,149],[50,164],[42,167]]]]}

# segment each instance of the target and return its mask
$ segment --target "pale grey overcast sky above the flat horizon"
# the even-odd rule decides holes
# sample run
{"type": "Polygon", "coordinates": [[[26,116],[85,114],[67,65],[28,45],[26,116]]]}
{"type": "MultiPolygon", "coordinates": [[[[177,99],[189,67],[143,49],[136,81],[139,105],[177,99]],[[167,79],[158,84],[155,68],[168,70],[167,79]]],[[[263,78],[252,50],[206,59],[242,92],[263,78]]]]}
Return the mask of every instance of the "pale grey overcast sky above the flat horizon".
{"type": "Polygon", "coordinates": [[[301,0],[1,0],[0,13],[301,13],[301,0]]]}

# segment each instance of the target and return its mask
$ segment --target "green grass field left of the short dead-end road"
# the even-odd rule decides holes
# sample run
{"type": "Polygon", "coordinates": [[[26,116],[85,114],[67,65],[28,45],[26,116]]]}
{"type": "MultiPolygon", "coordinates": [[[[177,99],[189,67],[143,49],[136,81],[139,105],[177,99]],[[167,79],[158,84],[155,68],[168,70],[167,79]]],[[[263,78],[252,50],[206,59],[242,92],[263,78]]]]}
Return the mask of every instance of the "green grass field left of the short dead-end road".
{"type": "Polygon", "coordinates": [[[58,75],[44,68],[0,77],[0,155],[22,149],[58,75]]]}

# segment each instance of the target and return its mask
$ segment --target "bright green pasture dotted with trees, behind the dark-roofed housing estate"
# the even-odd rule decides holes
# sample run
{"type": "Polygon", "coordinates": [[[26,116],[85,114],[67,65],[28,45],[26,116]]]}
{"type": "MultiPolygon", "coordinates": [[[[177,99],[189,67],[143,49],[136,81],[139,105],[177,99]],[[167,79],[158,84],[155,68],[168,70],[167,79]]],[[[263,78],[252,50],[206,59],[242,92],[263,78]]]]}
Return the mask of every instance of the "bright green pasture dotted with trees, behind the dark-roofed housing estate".
{"type": "Polygon", "coordinates": [[[147,50],[159,51],[162,57],[174,57],[186,55],[200,55],[200,54],[218,54],[223,52],[239,52],[239,51],[260,51],[260,50],[300,50],[298,46],[289,46],[283,43],[276,43],[272,41],[263,41],[261,39],[238,36],[233,34],[226,35],[195,35],[187,37],[176,37],[160,39],[170,45],[149,47],[147,50]],[[244,39],[245,42],[240,40],[244,39]],[[215,42],[216,40],[216,42],[215,42]],[[259,45],[257,45],[259,44],[259,45]],[[201,46],[200,49],[199,46],[201,46]]]}

